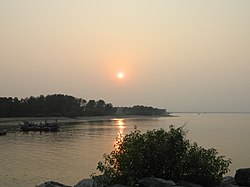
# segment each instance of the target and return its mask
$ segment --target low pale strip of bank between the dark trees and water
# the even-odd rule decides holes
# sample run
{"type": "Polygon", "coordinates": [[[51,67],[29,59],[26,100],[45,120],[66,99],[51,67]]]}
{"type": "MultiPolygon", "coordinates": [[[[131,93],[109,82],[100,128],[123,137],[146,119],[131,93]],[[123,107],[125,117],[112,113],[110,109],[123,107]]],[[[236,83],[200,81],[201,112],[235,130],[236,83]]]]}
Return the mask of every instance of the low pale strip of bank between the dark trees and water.
{"type": "Polygon", "coordinates": [[[168,115],[154,115],[154,116],[141,116],[141,115],[125,115],[125,116],[84,116],[84,117],[11,117],[11,118],[0,118],[0,128],[7,126],[18,126],[18,123],[23,121],[30,121],[34,123],[44,122],[55,122],[59,125],[64,125],[67,123],[81,123],[81,122],[91,122],[91,121],[111,121],[113,119],[120,118],[132,118],[132,119],[141,119],[141,118],[159,118],[159,117],[174,117],[170,114],[168,115]]]}

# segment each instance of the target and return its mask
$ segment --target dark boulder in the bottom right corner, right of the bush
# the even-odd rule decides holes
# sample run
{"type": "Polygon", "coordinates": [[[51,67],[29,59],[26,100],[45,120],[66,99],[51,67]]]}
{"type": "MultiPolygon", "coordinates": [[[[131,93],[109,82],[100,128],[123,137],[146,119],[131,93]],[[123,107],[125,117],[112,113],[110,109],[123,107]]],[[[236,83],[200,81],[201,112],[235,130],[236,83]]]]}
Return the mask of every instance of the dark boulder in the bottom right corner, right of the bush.
{"type": "Polygon", "coordinates": [[[234,179],[236,184],[240,186],[250,186],[250,168],[238,169],[234,179]]]}

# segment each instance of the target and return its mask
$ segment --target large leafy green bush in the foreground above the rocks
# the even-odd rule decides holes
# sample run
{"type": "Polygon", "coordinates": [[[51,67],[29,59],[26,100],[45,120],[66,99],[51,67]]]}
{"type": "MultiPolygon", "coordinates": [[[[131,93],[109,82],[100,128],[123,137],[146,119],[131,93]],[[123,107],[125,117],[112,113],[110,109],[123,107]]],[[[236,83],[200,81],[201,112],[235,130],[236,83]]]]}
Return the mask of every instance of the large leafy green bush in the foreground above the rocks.
{"type": "Polygon", "coordinates": [[[138,179],[154,176],[208,186],[222,179],[230,163],[214,148],[191,144],[183,127],[170,126],[169,131],[135,131],[117,138],[114,150],[104,155],[97,169],[108,184],[134,185],[138,179]]]}

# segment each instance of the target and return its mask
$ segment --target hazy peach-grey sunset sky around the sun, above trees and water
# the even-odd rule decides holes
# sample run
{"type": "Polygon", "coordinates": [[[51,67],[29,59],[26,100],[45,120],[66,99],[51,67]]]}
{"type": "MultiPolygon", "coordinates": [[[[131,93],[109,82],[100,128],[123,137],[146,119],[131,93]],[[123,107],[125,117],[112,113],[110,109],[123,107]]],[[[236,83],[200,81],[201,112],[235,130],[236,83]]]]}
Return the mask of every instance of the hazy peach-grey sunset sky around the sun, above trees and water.
{"type": "Polygon", "coordinates": [[[0,0],[0,97],[250,112],[249,10],[249,0],[0,0]]]}

